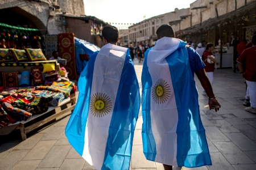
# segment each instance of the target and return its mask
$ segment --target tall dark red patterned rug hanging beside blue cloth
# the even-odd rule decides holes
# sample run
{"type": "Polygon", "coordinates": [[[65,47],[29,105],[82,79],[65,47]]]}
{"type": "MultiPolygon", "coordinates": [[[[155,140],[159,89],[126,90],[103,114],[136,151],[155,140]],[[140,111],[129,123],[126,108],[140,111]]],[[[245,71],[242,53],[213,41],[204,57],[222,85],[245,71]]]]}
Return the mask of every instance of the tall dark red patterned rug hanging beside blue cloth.
{"type": "Polygon", "coordinates": [[[68,72],[68,78],[77,80],[76,58],[75,58],[75,35],[74,33],[58,34],[59,56],[67,59],[65,69],[68,72]]]}

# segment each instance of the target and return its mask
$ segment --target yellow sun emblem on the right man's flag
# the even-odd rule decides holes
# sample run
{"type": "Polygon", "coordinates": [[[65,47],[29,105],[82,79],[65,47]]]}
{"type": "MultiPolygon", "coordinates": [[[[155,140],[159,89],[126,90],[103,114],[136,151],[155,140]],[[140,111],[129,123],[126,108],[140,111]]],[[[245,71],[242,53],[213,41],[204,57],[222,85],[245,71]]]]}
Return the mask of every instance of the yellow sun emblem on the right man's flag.
{"type": "Polygon", "coordinates": [[[152,99],[157,104],[165,103],[171,96],[171,88],[164,79],[159,79],[152,88],[152,99]]]}

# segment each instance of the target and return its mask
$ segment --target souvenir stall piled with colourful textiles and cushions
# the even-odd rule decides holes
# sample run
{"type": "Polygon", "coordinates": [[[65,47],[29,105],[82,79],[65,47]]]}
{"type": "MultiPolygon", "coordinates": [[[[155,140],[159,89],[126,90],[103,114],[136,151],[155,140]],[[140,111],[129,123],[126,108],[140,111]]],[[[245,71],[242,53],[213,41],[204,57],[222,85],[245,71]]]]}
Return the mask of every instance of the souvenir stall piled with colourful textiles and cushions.
{"type": "Polygon", "coordinates": [[[71,114],[75,108],[75,83],[57,60],[47,60],[42,37],[36,32],[1,25],[0,136],[19,130],[24,140],[30,131],[71,114]]]}

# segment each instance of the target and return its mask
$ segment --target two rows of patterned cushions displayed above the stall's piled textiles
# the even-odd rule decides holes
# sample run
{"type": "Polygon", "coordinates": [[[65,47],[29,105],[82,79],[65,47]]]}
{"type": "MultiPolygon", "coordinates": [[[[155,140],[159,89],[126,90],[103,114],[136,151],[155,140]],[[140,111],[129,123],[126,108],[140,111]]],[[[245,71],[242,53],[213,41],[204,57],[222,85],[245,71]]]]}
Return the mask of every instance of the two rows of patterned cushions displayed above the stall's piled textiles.
{"type": "MultiPolygon", "coordinates": [[[[0,64],[4,62],[35,62],[35,61],[47,61],[41,49],[30,49],[24,50],[19,49],[0,49],[0,64]]],[[[43,83],[43,74],[45,74],[46,83],[51,83],[58,79],[59,73],[55,70],[54,63],[42,63],[42,67],[36,66],[31,67],[32,82],[34,86],[38,86],[43,83]],[[42,74],[43,73],[43,74],[42,74]]],[[[27,71],[28,72],[28,71],[27,71]]],[[[31,86],[30,74],[22,74],[21,80],[27,79],[29,82],[19,84],[18,82],[18,71],[14,73],[1,73],[0,71],[0,87],[25,87],[31,86]]]]}

